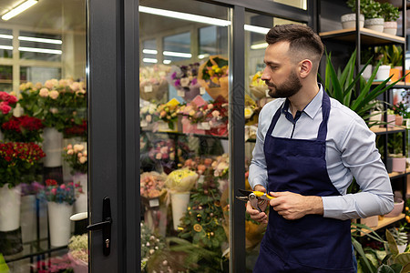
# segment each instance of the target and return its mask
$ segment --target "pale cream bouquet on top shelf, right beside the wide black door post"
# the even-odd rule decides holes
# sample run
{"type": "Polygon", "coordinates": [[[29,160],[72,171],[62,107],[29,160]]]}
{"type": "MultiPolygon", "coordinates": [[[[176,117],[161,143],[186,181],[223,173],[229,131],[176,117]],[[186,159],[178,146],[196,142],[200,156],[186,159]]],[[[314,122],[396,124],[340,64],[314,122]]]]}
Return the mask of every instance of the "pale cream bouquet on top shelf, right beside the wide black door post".
{"type": "Polygon", "coordinates": [[[161,100],[168,93],[167,74],[170,66],[139,68],[139,96],[144,100],[161,100]]]}

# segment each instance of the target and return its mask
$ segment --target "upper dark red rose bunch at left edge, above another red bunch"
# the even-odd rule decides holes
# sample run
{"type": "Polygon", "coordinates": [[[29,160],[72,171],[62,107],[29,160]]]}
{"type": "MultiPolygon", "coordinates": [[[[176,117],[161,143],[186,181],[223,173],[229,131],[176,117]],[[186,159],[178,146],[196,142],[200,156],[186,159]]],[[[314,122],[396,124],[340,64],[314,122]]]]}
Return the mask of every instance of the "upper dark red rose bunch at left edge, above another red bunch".
{"type": "Polygon", "coordinates": [[[15,142],[41,142],[43,123],[34,116],[10,116],[2,126],[5,139],[15,142]]]}

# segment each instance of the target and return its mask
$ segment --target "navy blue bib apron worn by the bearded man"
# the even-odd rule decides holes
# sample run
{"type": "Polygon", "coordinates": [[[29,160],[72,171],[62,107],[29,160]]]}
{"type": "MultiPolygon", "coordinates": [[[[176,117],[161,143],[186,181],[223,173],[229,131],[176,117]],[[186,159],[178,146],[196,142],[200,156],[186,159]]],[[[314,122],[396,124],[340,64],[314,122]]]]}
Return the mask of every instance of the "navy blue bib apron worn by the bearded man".
{"type": "MultiPolygon", "coordinates": [[[[303,196],[340,196],[326,168],[325,151],[330,99],[323,92],[323,121],[316,140],[272,136],[282,106],[265,136],[268,192],[290,191],[303,196]]],[[[307,215],[287,220],[270,208],[254,273],[355,272],[350,220],[307,215]]]]}

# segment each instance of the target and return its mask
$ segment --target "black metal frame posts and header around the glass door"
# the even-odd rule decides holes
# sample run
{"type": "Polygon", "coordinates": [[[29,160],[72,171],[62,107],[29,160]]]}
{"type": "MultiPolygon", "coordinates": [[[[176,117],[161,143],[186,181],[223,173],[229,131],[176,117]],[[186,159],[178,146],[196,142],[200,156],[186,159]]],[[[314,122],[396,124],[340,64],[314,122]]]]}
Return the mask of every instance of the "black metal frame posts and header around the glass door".
{"type": "MultiPolygon", "coordinates": [[[[269,0],[202,2],[232,8],[230,271],[242,272],[246,254],[245,215],[243,203],[233,196],[245,183],[244,151],[234,148],[244,147],[245,143],[245,12],[292,19],[315,29],[313,1],[308,0],[308,11],[269,0]]],[[[104,197],[111,199],[113,218],[108,257],[102,252],[101,232],[90,233],[90,272],[140,271],[138,4],[138,0],[87,1],[88,220],[90,223],[102,220],[104,197]]]]}

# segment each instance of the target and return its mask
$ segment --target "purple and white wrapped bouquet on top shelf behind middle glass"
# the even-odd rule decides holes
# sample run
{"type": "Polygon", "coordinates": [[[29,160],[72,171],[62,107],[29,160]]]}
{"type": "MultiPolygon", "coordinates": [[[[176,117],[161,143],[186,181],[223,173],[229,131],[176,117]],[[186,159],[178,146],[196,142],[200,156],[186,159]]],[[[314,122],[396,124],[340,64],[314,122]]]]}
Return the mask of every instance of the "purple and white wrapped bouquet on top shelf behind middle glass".
{"type": "Polygon", "coordinates": [[[195,96],[200,95],[200,83],[198,82],[199,63],[188,66],[172,66],[169,73],[169,84],[179,91],[185,101],[190,102],[195,96]]]}

